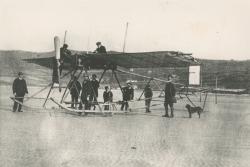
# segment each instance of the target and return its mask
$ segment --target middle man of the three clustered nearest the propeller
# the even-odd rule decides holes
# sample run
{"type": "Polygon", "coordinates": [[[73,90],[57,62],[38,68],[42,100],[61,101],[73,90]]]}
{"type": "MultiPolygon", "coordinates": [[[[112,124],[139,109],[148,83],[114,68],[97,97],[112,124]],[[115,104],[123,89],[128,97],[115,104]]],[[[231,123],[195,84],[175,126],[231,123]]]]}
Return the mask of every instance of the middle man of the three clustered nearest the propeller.
{"type": "Polygon", "coordinates": [[[85,110],[90,110],[89,105],[89,96],[91,94],[91,83],[87,76],[84,76],[83,82],[82,82],[82,93],[81,93],[81,103],[79,106],[79,109],[82,109],[82,105],[84,104],[85,110]]]}

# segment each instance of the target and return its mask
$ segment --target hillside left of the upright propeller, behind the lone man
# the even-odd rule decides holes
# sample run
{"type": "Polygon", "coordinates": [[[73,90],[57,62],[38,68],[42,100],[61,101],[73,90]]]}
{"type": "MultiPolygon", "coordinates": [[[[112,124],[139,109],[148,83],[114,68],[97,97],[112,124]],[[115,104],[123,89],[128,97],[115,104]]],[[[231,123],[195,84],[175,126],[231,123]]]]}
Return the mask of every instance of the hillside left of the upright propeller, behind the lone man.
{"type": "Polygon", "coordinates": [[[52,71],[42,66],[27,63],[22,59],[50,57],[53,52],[36,53],[27,51],[0,51],[0,83],[10,84],[19,71],[24,72],[28,84],[46,85],[52,71]]]}

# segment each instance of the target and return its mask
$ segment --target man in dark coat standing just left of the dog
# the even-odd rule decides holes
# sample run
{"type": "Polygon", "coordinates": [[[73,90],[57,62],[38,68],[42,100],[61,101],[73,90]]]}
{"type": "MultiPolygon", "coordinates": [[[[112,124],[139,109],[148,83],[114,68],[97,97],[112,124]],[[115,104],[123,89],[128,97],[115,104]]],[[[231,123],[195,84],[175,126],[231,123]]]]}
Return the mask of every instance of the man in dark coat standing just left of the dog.
{"type": "Polygon", "coordinates": [[[175,98],[175,86],[172,83],[172,75],[168,76],[168,83],[166,83],[165,86],[165,102],[164,102],[164,107],[165,107],[165,115],[163,115],[163,117],[169,117],[168,114],[168,106],[171,109],[171,116],[170,117],[174,117],[174,98],[175,98]]]}

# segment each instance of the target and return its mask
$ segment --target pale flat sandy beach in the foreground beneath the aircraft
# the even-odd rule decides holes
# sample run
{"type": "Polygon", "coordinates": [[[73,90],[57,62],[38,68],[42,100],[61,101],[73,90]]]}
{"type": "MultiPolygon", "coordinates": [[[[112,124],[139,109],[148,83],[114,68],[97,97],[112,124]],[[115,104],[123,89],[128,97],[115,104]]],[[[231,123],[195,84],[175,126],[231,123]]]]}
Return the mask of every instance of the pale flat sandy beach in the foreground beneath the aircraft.
{"type": "MultiPolygon", "coordinates": [[[[250,163],[248,96],[220,96],[214,104],[211,95],[200,119],[187,118],[184,100],[176,104],[173,119],[161,117],[163,105],[152,108],[151,114],[141,109],[137,114],[83,117],[25,107],[23,113],[13,113],[10,90],[1,86],[0,166],[246,167],[250,163]]],[[[37,90],[30,88],[30,94],[37,90]]],[[[27,104],[35,108],[43,101],[38,102],[27,104]]],[[[143,102],[130,106],[143,107],[143,102]]]]}

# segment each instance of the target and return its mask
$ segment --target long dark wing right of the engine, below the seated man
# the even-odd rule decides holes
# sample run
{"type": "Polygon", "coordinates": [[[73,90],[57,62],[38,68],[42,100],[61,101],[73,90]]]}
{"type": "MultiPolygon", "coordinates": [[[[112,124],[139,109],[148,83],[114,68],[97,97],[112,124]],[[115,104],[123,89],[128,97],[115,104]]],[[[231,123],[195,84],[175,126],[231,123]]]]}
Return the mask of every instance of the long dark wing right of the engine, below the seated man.
{"type": "Polygon", "coordinates": [[[172,51],[84,54],[82,59],[91,68],[103,68],[109,63],[125,68],[187,67],[200,64],[191,54],[172,51]]]}

